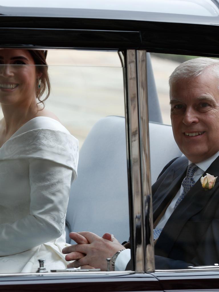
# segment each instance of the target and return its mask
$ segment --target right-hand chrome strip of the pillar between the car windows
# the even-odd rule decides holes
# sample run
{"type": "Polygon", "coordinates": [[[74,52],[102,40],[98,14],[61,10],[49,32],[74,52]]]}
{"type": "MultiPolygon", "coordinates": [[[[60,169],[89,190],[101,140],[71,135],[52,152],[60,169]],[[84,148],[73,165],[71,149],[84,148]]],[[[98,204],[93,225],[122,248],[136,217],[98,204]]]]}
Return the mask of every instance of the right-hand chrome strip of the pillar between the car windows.
{"type": "Polygon", "coordinates": [[[137,51],[137,79],[139,103],[139,133],[140,133],[140,162],[142,185],[142,215],[143,236],[145,251],[145,271],[154,272],[154,238],[152,190],[150,173],[150,144],[148,126],[148,100],[147,100],[147,57],[146,51],[137,51]]]}

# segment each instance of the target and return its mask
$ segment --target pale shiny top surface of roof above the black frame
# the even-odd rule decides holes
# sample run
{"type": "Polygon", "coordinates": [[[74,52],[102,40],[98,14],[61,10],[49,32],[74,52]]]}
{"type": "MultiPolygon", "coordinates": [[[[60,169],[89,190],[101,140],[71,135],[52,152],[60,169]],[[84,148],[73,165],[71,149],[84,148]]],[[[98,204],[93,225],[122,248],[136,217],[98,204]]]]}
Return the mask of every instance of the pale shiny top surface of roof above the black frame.
{"type": "MultiPolygon", "coordinates": [[[[217,17],[217,0],[11,0],[1,1],[2,15],[147,20],[148,13],[217,17]]],[[[154,16],[153,16],[154,17],[154,16]]]]}

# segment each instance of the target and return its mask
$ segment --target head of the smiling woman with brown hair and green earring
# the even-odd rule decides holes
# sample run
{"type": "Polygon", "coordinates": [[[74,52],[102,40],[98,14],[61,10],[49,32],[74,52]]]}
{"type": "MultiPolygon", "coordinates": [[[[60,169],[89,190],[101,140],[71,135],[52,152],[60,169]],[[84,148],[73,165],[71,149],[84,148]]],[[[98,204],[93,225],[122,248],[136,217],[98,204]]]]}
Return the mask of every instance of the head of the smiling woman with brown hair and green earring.
{"type": "MultiPolygon", "coordinates": [[[[46,51],[19,49],[1,50],[1,91],[11,92],[11,90],[13,90],[15,87],[19,87],[17,95],[21,95],[27,102],[27,100],[29,100],[31,97],[35,98],[36,96],[39,99],[43,95],[44,91],[48,89],[48,94],[44,100],[40,102],[45,101],[50,93],[46,54],[46,51]],[[13,79],[18,79],[16,81],[19,81],[19,83],[15,83],[13,79]],[[26,96],[28,96],[28,98],[26,98],[26,96]]],[[[4,98],[4,95],[1,95],[1,98],[4,98]]],[[[10,98],[10,95],[6,95],[5,98],[7,100],[7,98],[10,98]]],[[[16,102],[14,95],[13,102],[16,102]]]]}

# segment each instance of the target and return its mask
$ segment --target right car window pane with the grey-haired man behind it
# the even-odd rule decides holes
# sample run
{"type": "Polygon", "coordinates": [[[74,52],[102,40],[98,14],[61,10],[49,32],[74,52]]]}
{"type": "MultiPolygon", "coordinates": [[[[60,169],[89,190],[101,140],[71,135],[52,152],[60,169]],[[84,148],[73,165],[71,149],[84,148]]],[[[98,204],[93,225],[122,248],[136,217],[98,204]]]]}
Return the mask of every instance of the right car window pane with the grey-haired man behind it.
{"type": "Polygon", "coordinates": [[[164,145],[162,151],[157,149],[153,156],[156,149],[151,147],[152,167],[159,164],[161,175],[152,188],[155,267],[175,270],[214,265],[219,260],[215,200],[219,60],[151,55],[164,122],[154,126],[164,145]],[[168,126],[171,122],[172,127],[168,126]]]}

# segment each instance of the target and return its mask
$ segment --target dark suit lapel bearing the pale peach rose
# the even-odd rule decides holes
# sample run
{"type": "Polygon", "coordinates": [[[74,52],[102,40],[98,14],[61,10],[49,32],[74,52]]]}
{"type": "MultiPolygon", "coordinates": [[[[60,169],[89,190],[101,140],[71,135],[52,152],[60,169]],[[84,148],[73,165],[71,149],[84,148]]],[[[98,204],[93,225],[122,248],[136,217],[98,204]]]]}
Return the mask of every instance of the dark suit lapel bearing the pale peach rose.
{"type": "MultiPolygon", "coordinates": [[[[201,186],[200,179],[186,194],[185,198],[173,211],[163,231],[161,232],[156,243],[156,254],[160,256],[168,256],[173,244],[175,243],[178,235],[180,234],[185,223],[195,214],[200,212],[207,204],[215,191],[219,187],[219,157],[213,161],[211,166],[206,170],[214,176],[218,176],[215,186],[211,190],[204,190],[201,186]]],[[[203,174],[206,175],[206,173],[203,174]]]]}

